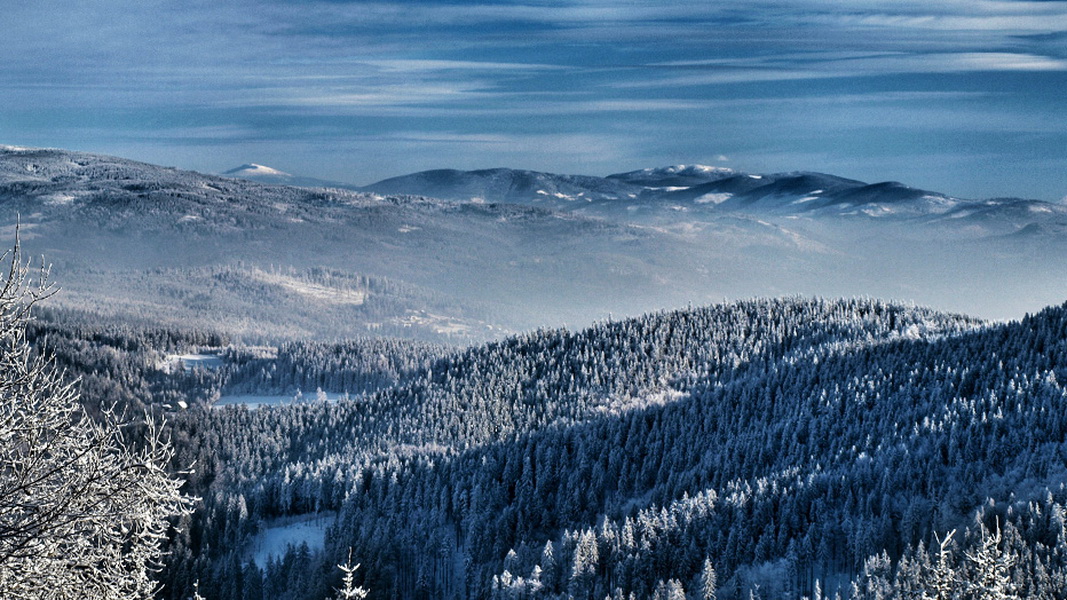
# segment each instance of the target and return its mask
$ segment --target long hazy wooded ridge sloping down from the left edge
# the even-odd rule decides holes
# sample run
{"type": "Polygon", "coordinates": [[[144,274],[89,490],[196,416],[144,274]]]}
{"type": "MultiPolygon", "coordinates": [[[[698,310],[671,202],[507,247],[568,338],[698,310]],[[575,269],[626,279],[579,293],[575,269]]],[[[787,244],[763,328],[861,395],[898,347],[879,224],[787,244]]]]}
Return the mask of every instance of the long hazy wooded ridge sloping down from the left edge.
{"type": "Polygon", "coordinates": [[[465,343],[672,305],[697,289],[679,266],[691,242],[665,232],[62,149],[0,149],[4,244],[16,223],[27,255],[62,273],[64,307],[251,340],[465,343]],[[664,281],[676,285],[664,290],[664,281]],[[612,294],[623,285],[626,295],[612,294]]]}

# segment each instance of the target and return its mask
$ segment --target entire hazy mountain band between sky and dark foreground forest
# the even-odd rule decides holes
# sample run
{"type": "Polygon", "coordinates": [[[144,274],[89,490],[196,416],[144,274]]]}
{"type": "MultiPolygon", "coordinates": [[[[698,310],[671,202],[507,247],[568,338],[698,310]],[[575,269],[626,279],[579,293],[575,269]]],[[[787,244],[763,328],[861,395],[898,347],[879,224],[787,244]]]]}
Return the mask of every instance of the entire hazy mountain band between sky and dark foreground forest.
{"type": "Polygon", "coordinates": [[[1067,298],[1067,207],[817,173],[431,171],[352,190],[7,146],[6,244],[16,223],[54,267],[54,304],[248,341],[466,343],[752,296],[993,318],[1067,298]]]}

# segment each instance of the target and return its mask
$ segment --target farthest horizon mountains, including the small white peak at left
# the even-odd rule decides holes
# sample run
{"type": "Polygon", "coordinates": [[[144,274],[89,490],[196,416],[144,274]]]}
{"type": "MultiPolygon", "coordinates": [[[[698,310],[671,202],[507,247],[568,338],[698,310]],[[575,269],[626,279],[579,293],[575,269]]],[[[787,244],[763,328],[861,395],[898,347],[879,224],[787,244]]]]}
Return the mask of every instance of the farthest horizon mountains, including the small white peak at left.
{"type": "Polygon", "coordinates": [[[288,179],[280,179],[269,168],[249,167],[226,174],[382,195],[519,204],[682,231],[700,228],[710,221],[729,222],[729,217],[759,217],[774,219],[801,236],[815,233],[811,230],[818,227],[816,222],[827,219],[850,221],[864,236],[869,235],[864,225],[877,222],[895,237],[918,240],[1014,236],[1055,242],[1067,232],[1067,205],[1062,203],[961,199],[897,181],[867,184],[816,172],[757,174],[679,164],[598,177],[515,169],[443,169],[356,187],[287,174],[288,179]]]}

